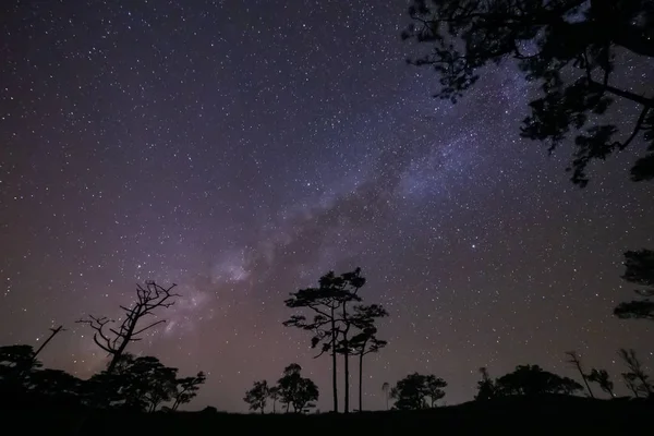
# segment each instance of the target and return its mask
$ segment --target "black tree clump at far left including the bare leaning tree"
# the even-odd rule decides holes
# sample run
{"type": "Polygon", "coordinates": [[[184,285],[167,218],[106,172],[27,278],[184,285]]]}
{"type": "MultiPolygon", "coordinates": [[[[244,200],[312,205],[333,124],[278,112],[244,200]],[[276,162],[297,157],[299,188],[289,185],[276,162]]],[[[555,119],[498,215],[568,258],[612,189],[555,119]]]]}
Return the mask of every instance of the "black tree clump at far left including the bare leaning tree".
{"type": "Polygon", "coordinates": [[[122,322],[116,325],[107,317],[87,316],[78,323],[90,326],[94,342],[110,356],[107,368],[83,380],[64,371],[43,368],[39,353],[62,327],[52,329],[38,349],[17,344],[0,347],[0,401],[3,407],[66,407],[88,409],[124,409],[141,412],[177,410],[190,402],[204,384],[203,372],[180,377],[178,368],[164,365],[154,356],[135,356],[128,346],[164,320],[142,320],[158,310],[173,305],[179,295],[174,284],[164,288],[154,281],[138,286],[136,301],[121,306],[122,322]]]}

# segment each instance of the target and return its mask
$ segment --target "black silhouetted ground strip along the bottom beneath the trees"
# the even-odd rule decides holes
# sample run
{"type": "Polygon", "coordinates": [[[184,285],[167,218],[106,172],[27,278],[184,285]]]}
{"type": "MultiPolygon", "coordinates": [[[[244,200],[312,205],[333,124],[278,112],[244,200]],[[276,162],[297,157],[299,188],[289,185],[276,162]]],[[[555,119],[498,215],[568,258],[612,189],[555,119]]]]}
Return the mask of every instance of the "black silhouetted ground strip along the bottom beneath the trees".
{"type": "Polygon", "coordinates": [[[0,434],[37,435],[629,435],[652,434],[654,404],[574,397],[509,398],[425,411],[343,414],[0,412],[0,434]],[[15,425],[15,427],[14,427],[15,425]]]}

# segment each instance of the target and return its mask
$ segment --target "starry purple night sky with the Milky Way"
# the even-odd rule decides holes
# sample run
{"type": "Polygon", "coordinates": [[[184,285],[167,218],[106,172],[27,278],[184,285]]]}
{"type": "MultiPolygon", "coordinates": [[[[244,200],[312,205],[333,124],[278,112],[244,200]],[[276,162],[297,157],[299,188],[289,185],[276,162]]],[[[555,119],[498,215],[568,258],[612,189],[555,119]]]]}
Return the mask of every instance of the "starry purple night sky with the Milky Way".
{"type": "MultiPolygon", "coordinates": [[[[617,349],[654,364],[651,323],[611,315],[632,296],[622,252],[654,245],[635,155],[574,186],[571,147],[519,137],[535,94],[511,63],[456,106],[433,99],[438,77],[404,63],[405,7],[2,2],[0,343],[38,347],[63,324],[43,361],[88,377],[106,355],[74,320],[175,282],[169,323],[131,351],[205,371],[192,409],[245,411],[253,380],[298,362],[328,410],[329,359],[281,325],[283,300],[361,266],[365,301],[390,313],[366,408],[414,371],[444,377],[449,404],[472,399],[480,366],[574,376],[568,350],[626,393],[617,349]]],[[[625,87],[651,86],[652,64],[621,65],[625,87]]]]}

